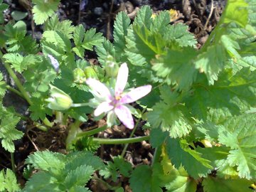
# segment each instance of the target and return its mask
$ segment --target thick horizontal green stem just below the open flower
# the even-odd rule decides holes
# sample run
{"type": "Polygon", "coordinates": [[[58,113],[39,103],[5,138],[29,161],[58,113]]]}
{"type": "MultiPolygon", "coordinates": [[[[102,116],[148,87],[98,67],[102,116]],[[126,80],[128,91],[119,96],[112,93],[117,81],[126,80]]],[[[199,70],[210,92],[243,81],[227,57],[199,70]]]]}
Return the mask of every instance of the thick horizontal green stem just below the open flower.
{"type": "Polygon", "coordinates": [[[93,141],[98,142],[99,144],[132,144],[142,141],[149,140],[149,136],[135,137],[128,139],[103,139],[103,138],[93,138],[93,141]]]}

